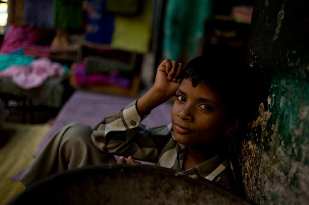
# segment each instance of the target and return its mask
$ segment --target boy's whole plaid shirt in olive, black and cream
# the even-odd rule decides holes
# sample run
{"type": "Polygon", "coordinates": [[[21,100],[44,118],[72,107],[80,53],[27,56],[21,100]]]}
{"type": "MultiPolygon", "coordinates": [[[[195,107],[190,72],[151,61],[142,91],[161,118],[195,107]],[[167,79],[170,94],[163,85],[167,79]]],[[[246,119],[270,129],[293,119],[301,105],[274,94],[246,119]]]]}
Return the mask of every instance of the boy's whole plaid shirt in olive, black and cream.
{"type": "MultiPolygon", "coordinates": [[[[140,122],[136,100],[110,114],[92,132],[94,145],[101,151],[138,160],[156,162],[157,166],[183,170],[187,146],[175,141],[172,125],[150,129],[140,122]]],[[[230,158],[215,156],[186,172],[235,190],[235,175],[230,158]]]]}

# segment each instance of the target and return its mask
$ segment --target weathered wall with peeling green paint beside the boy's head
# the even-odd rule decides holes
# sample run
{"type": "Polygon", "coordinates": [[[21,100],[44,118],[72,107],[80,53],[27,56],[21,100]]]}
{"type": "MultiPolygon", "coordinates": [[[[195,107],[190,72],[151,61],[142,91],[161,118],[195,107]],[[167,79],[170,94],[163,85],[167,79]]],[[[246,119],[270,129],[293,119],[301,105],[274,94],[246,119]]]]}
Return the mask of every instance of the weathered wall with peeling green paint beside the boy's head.
{"type": "Polygon", "coordinates": [[[268,93],[237,155],[244,193],[257,204],[309,204],[308,8],[255,1],[246,61],[264,73],[268,93]]]}

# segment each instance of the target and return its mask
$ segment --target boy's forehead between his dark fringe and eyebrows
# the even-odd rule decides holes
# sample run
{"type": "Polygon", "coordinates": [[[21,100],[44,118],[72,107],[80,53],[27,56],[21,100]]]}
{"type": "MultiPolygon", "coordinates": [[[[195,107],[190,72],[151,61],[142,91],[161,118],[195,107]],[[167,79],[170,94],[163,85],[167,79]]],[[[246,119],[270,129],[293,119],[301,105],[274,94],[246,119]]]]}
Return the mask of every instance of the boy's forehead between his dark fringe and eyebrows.
{"type": "Polygon", "coordinates": [[[181,81],[178,92],[182,92],[186,97],[195,101],[207,101],[215,107],[225,109],[221,97],[215,93],[209,86],[197,84],[193,87],[190,80],[184,79],[181,81]]]}

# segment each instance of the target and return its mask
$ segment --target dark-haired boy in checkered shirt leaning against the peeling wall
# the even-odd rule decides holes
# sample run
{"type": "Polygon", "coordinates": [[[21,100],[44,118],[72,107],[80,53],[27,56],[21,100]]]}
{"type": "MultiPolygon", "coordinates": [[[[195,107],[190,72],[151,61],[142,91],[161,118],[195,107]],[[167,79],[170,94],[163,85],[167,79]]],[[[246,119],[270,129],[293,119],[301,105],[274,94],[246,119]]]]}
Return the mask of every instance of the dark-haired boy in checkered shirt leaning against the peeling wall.
{"type": "Polygon", "coordinates": [[[164,60],[144,96],[104,118],[93,130],[80,123],[59,130],[21,181],[27,187],[62,170],[116,162],[113,153],[129,156],[118,163],[138,163],[133,158],[154,161],[235,189],[228,136],[241,123],[235,92],[239,81],[231,67],[208,69],[206,60],[197,57],[184,68],[177,61],[164,60]],[[154,129],[140,125],[152,109],[175,94],[170,125],[154,129]]]}

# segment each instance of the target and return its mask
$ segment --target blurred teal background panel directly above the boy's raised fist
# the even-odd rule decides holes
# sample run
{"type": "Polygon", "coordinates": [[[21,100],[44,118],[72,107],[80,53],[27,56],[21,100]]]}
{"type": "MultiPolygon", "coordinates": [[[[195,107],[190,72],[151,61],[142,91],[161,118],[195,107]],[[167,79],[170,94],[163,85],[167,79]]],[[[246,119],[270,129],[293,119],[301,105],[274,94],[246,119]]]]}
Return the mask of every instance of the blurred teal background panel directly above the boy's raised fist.
{"type": "Polygon", "coordinates": [[[167,0],[163,25],[163,57],[183,63],[196,57],[211,19],[213,0],[167,0]]]}

